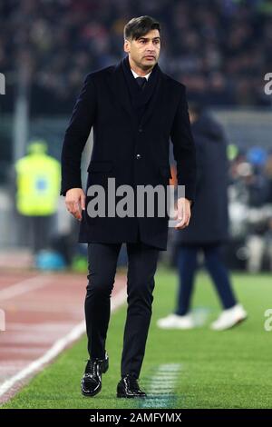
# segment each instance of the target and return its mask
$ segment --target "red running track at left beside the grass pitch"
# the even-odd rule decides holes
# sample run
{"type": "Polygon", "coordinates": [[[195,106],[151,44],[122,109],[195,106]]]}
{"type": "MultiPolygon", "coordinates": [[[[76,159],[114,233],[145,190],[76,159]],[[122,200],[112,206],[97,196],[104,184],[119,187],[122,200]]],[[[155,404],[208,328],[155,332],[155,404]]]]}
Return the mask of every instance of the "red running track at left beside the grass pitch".
{"type": "MultiPolygon", "coordinates": [[[[1,273],[0,404],[84,333],[86,284],[78,273],[1,273]]],[[[112,310],[125,300],[126,277],[119,274],[112,310]]]]}

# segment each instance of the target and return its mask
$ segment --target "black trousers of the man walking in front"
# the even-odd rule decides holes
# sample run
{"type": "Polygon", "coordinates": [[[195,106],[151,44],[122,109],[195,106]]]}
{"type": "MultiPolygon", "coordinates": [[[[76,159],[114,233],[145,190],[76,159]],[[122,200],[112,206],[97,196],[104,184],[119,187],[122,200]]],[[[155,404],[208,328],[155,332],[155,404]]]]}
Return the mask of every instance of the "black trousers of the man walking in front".
{"type": "MultiPolygon", "coordinates": [[[[121,376],[139,378],[151,323],[154,274],[160,249],[126,243],[128,253],[127,318],[121,354],[121,376]]],[[[121,243],[88,243],[89,283],[85,318],[90,358],[103,358],[111,313],[111,293],[121,243]]]]}

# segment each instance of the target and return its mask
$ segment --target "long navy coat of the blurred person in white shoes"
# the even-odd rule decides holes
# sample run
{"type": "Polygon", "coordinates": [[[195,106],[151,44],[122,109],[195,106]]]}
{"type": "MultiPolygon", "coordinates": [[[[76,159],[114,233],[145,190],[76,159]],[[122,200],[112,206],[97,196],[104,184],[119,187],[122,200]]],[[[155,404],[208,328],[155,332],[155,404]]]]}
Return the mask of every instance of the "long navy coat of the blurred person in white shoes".
{"type": "Polygon", "coordinates": [[[176,233],[176,240],[184,244],[223,243],[228,239],[226,139],[222,127],[200,111],[197,104],[189,110],[198,164],[194,214],[186,230],[176,233]]]}

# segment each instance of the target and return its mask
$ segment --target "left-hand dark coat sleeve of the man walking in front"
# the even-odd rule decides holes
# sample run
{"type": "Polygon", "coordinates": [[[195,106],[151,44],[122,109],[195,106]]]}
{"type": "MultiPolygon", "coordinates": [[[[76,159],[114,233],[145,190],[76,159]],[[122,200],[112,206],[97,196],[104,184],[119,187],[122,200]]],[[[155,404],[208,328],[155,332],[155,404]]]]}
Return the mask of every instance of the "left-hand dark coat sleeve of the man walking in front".
{"type": "Polygon", "coordinates": [[[61,195],[71,188],[82,188],[81,160],[83,148],[92,129],[97,107],[92,74],[87,74],[73,107],[70,123],[64,134],[61,195]]]}

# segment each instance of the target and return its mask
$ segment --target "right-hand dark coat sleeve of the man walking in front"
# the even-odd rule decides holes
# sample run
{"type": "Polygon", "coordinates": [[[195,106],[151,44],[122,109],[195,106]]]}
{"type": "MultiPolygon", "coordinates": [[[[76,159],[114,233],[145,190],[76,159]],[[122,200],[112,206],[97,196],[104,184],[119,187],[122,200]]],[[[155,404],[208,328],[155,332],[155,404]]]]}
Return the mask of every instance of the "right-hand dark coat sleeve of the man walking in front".
{"type": "Polygon", "coordinates": [[[177,163],[179,185],[185,185],[185,197],[194,204],[196,192],[196,148],[191,134],[186,88],[181,86],[180,103],[170,132],[177,163]]]}

